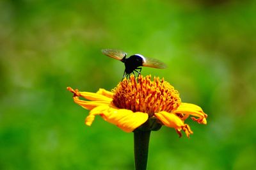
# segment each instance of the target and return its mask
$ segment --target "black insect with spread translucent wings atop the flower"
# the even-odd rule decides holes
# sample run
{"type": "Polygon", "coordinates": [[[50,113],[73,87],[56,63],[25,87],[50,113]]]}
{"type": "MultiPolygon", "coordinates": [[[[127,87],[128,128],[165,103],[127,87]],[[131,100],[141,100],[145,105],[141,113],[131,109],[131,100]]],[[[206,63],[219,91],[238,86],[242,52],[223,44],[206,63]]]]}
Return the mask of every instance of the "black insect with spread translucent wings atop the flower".
{"type": "Polygon", "coordinates": [[[152,68],[166,68],[166,65],[159,61],[158,59],[154,58],[145,58],[141,54],[134,54],[129,58],[126,58],[127,54],[122,50],[114,50],[114,49],[103,49],[102,53],[110,58],[118,59],[122,61],[125,65],[123,79],[126,76],[127,78],[130,76],[131,73],[134,72],[139,73],[141,72],[140,66],[148,66],[152,68]]]}

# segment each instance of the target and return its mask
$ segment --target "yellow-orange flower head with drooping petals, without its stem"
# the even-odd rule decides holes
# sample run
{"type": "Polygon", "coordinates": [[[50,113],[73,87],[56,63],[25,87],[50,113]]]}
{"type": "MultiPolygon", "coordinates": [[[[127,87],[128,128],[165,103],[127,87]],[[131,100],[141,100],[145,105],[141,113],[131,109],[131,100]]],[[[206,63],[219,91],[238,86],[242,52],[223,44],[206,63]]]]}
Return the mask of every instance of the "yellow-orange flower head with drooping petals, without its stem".
{"type": "Polygon", "coordinates": [[[175,128],[180,136],[183,130],[189,137],[193,132],[184,120],[190,115],[197,117],[192,117],[192,120],[198,123],[207,123],[207,114],[201,107],[181,102],[179,92],[159,77],[151,81],[150,75],[141,75],[138,79],[132,75],[131,79],[120,82],[112,92],[105,89],[99,89],[97,93],[81,92],[70,87],[67,89],[74,93],[74,102],[90,110],[85,120],[88,126],[99,114],[125,132],[132,132],[146,121],[154,120],[175,128]],[[87,100],[80,100],[79,97],[87,100]]]}

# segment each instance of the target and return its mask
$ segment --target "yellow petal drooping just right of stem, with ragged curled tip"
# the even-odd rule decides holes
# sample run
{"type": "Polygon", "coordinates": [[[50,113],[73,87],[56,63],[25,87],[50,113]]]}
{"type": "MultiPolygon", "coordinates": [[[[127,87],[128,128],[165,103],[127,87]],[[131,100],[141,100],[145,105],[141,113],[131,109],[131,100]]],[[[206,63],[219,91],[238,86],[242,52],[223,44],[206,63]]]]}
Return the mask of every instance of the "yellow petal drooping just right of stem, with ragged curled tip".
{"type": "Polygon", "coordinates": [[[193,134],[192,130],[190,129],[189,125],[184,124],[184,122],[172,112],[156,112],[155,116],[164,124],[166,127],[175,128],[177,133],[181,137],[180,130],[183,130],[186,135],[189,137],[189,134],[193,134]]]}

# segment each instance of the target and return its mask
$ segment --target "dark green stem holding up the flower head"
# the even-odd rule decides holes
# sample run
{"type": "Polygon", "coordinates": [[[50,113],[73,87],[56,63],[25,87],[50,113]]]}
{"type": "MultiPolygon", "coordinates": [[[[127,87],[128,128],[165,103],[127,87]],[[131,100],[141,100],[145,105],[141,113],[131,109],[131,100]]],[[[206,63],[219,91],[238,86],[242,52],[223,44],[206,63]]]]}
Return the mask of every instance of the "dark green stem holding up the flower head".
{"type": "Polygon", "coordinates": [[[146,170],[150,130],[134,130],[134,159],[136,170],[146,170]]]}

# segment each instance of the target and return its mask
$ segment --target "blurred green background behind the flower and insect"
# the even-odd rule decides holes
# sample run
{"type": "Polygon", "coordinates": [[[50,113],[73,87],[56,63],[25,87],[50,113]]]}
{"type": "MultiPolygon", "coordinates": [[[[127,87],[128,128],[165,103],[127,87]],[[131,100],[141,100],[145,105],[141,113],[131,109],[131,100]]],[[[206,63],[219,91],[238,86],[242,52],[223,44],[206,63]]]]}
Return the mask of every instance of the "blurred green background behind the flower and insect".
{"type": "Polygon", "coordinates": [[[255,169],[255,1],[0,1],[0,169],[134,169],[133,134],[74,104],[67,86],[111,90],[124,65],[164,77],[207,125],[152,132],[148,169],[255,169]]]}

